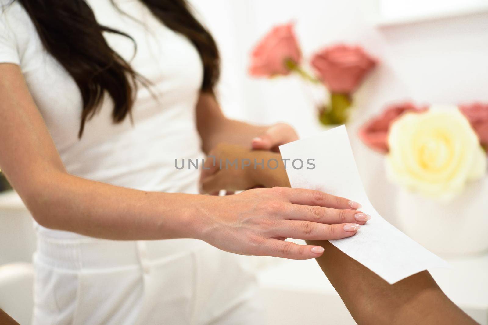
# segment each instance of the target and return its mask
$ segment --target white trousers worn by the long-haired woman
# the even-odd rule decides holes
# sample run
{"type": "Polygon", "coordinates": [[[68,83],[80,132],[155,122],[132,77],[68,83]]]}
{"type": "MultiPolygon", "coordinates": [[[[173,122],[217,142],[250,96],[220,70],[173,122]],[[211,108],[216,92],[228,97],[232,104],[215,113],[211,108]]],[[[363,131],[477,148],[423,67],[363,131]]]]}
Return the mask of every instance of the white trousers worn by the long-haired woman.
{"type": "Polygon", "coordinates": [[[262,324],[244,256],[194,239],[38,236],[34,324],[262,324]]]}

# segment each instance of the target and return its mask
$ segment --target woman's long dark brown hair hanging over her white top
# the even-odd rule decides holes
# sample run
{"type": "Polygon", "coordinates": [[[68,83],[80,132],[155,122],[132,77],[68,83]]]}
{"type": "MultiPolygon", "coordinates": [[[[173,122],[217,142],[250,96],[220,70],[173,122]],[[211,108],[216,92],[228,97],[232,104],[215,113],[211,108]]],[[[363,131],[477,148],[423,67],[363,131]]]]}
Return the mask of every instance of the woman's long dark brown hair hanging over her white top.
{"type": "MultiPolygon", "coordinates": [[[[85,0],[18,1],[33,21],[47,52],[58,60],[80,89],[83,109],[79,137],[85,122],[97,112],[105,92],[114,102],[114,123],[130,115],[136,81],[147,83],[108,46],[102,33],[130,36],[99,24],[85,0]]],[[[203,62],[202,91],[212,92],[219,77],[217,46],[210,33],[191,14],[185,0],[140,1],[164,25],[193,43],[203,62]]],[[[115,5],[113,0],[112,4],[115,5]]]]}

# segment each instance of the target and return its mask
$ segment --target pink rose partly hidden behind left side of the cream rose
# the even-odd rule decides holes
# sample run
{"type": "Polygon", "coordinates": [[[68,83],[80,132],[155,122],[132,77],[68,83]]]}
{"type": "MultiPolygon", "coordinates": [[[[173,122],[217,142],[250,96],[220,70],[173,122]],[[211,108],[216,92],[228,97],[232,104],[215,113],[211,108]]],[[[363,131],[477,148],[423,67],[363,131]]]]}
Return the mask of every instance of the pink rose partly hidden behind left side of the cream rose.
{"type": "Polygon", "coordinates": [[[421,112],[427,107],[418,108],[406,102],[388,106],[381,115],[372,118],[359,129],[359,138],[371,149],[388,152],[388,131],[391,123],[400,115],[409,111],[421,112]]]}

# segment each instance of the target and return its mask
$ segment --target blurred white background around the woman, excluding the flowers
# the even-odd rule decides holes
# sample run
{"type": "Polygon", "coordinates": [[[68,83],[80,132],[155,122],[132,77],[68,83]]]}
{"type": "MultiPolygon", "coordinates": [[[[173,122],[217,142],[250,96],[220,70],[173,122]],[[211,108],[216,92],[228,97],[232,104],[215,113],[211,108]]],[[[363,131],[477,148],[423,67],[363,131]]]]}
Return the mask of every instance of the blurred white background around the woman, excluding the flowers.
{"type": "MultiPolygon", "coordinates": [[[[452,264],[452,270],[432,270],[432,274],[456,304],[480,324],[488,324],[486,236],[467,230],[464,237],[453,238],[446,230],[441,236],[453,245],[446,250],[422,237],[427,221],[422,218],[438,223],[446,211],[455,211],[457,229],[475,222],[479,233],[486,233],[487,177],[449,205],[439,206],[390,183],[384,155],[366,147],[357,136],[360,126],[391,103],[488,102],[488,0],[190,2],[218,42],[222,55],[218,96],[232,118],[256,124],[286,122],[301,137],[326,129],[318,121],[313,90],[298,75],[249,76],[250,53],[273,26],[295,23],[305,59],[337,43],[359,45],[378,59],[354,93],[346,125],[368,197],[390,223],[452,264]]],[[[29,263],[34,248],[28,212],[15,193],[4,191],[0,194],[0,307],[21,324],[30,322],[29,263]]],[[[250,262],[260,274],[268,324],[354,324],[314,261],[255,258],[250,262]]]]}

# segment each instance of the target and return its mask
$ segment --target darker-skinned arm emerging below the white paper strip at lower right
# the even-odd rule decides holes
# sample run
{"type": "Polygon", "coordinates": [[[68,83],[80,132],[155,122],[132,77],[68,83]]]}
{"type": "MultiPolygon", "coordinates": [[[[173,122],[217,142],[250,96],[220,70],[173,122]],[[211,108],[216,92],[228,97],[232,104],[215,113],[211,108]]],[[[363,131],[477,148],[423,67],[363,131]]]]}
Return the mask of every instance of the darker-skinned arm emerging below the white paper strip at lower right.
{"type": "Polygon", "coordinates": [[[358,324],[476,324],[453,304],[427,271],[388,284],[328,241],[309,241],[316,258],[358,324]]]}

